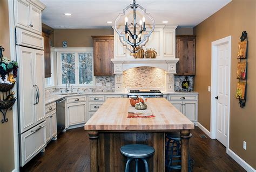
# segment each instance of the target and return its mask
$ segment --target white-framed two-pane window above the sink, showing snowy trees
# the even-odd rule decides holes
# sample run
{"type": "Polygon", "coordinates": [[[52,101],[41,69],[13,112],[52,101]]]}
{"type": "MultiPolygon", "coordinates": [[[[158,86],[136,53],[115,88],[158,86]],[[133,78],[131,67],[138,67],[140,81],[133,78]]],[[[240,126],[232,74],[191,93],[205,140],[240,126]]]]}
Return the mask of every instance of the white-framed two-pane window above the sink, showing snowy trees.
{"type": "Polygon", "coordinates": [[[58,48],[58,84],[95,85],[93,48],[58,48]]]}

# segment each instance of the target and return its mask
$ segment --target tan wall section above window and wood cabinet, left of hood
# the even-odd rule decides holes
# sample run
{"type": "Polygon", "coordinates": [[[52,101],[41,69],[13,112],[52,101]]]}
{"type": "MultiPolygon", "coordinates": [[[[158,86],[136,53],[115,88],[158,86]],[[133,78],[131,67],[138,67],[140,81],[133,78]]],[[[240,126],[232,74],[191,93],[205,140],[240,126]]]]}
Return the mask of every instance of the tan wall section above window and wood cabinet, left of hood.
{"type": "Polygon", "coordinates": [[[62,47],[62,42],[68,41],[68,47],[93,47],[91,35],[113,34],[112,28],[55,29],[54,46],[62,47]]]}

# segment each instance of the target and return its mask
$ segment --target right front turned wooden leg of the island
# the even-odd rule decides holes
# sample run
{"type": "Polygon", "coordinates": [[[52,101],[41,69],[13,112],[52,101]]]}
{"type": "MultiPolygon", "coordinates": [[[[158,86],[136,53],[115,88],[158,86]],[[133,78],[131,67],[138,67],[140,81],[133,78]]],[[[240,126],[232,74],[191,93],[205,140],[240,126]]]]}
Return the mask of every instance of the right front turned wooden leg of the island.
{"type": "Polygon", "coordinates": [[[187,172],[190,130],[181,130],[180,137],[181,137],[181,172],[187,172]]]}

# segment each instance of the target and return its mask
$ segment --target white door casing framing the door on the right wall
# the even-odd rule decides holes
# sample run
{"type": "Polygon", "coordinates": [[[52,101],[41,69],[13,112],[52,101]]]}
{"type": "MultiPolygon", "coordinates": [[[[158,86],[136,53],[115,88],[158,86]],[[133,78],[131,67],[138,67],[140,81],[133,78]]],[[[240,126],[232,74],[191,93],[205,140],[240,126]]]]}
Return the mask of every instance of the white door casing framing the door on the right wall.
{"type": "MultiPolygon", "coordinates": [[[[223,44],[228,44],[228,55],[230,56],[230,65],[229,65],[229,80],[231,79],[231,35],[216,41],[212,42],[212,71],[211,71],[211,139],[216,139],[216,123],[217,123],[217,116],[216,116],[216,106],[217,102],[215,99],[215,96],[217,96],[217,65],[218,65],[218,46],[223,45],[223,44]]],[[[230,88],[230,81],[228,87],[230,88]]],[[[226,147],[226,152],[228,152],[229,148],[229,141],[230,141],[230,89],[228,92],[228,122],[227,122],[227,147],[226,147]]]]}

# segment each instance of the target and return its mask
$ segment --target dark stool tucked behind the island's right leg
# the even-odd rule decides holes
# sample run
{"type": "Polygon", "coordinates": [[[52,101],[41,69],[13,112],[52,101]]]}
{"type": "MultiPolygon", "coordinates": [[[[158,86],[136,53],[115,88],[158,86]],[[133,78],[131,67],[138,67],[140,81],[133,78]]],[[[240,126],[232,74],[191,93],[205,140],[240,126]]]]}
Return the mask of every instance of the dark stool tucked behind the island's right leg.
{"type": "MultiPolygon", "coordinates": [[[[192,137],[192,134],[190,134],[192,137]]],[[[168,171],[172,169],[180,170],[181,169],[181,144],[180,144],[180,133],[179,132],[169,132],[166,134],[166,147],[165,147],[165,165],[168,167],[168,171]],[[172,143],[171,143],[172,141],[172,143]],[[169,155],[169,149],[171,145],[171,154],[169,155]],[[173,154],[176,153],[176,154],[173,154]],[[170,156],[170,161],[168,163],[168,156],[170,156]],[[174,159],[174,160],[173,160],[174,159]],[[176,164],[173,164],[176,163],[176,164]]],[[[188,171],[192,171],[194,165],[194,160],[190,158],[188,154],[188,171]]]]}

